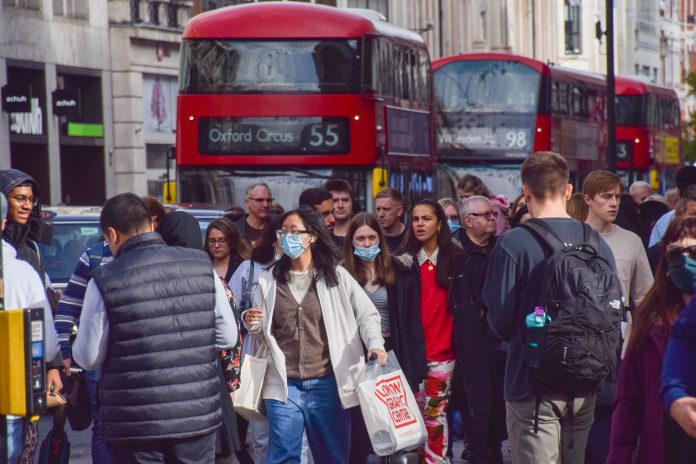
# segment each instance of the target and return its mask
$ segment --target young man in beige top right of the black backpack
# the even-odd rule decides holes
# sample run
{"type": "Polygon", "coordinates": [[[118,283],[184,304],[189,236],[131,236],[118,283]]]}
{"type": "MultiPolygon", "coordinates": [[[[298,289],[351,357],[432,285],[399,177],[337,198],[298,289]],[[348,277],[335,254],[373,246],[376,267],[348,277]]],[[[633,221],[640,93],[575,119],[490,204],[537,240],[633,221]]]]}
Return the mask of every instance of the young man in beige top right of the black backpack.
{"type": "MultiPolygon", "coordinates": [[[[621,178],[609,171],[593,171],[582,184],[588,207],[585,222],[609,245],[621,282],[624,305],[635,308],[653,284],[648,256],[643,242],[633,232],[614,224],[623,193],[621,178]]],[[[628,333],[625,338],[628,338],[628,333]]],[[[604,463],[609,455],[609,432],[614,410],[615,373],[602,384],[595,402],[595,420],[588,440],[586,462],[604,463]]]]}

